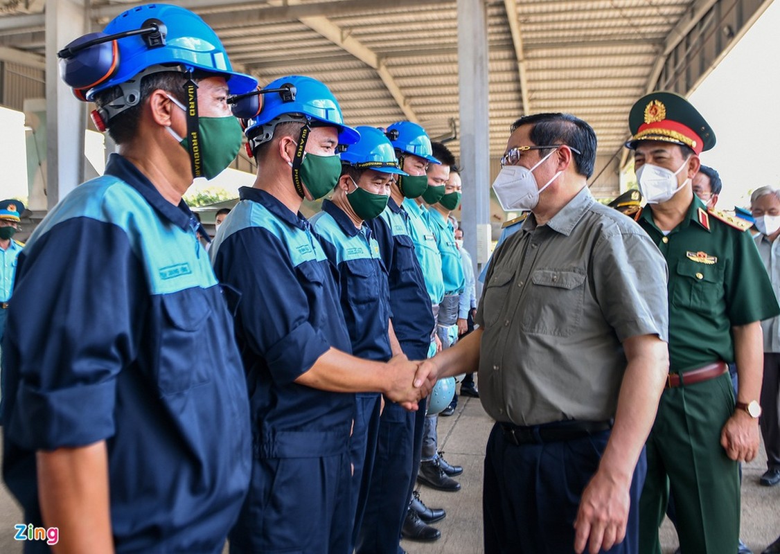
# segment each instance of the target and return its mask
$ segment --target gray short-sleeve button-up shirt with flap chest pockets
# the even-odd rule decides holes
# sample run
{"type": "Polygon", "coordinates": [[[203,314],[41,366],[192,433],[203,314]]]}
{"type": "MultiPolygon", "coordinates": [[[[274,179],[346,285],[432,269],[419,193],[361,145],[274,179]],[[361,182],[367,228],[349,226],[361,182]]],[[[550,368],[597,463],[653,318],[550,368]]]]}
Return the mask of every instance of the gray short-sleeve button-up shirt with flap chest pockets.
{"type": "Polygon", "coordinates": [[[480,400],[496,421],[615,416],[622,341],[668,341],[667,268],[647,233],[583,188],[495,251],[475,321],[480,400]]]}

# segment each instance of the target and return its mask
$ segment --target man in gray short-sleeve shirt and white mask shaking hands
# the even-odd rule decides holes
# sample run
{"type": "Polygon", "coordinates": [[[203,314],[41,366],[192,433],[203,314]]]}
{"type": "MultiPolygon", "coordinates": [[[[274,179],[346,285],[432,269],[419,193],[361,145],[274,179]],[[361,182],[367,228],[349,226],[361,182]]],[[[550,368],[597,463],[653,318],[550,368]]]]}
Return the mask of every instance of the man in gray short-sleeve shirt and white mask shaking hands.
{"type": "Polygon", "coordinates": [[[479,328],[426,364],[431,380],[478,368],[496,420],[488,554],[637,549],[643,447],[668,372],[667,273],[647,234],[590,195],[595,154],[573,115],[512,126],[493,188],[506,211],[532,213],[495,251],[479,328]]]}

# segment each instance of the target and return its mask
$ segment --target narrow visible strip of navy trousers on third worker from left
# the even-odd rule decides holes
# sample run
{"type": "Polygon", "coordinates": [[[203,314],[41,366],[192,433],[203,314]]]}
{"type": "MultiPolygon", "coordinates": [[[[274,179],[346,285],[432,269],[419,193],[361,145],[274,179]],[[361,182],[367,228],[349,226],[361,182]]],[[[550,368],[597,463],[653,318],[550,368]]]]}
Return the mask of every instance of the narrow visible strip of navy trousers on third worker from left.
{"type": "MultiPolygon", "coordinates": [[[[350,511],[354,513],[352,545],[357,541],[363,513],[368,503],[368,491],[371,487],[371,474],[377,457],[379,437],[379,410],[381,395],[378,393],[360,393],[355,395],[355,425],[349,443],[349,458],[353,464],[352,495],[350,511]]],[[[352,548],[349,552],[352,552],[352,548]]]]}

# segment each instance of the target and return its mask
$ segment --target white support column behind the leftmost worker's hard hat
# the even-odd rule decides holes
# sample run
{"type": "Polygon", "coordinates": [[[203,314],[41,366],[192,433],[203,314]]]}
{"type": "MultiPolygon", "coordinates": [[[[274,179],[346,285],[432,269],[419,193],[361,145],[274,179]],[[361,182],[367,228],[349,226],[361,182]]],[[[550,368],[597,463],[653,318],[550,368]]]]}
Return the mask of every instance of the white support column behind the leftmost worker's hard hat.
{"type": "Polygon", "coordinates": [[[54,208],[83,181],[86,104],[58,73],[57,51],[87,33],[83,0],[46,0],[46,197],[54,208]]]}

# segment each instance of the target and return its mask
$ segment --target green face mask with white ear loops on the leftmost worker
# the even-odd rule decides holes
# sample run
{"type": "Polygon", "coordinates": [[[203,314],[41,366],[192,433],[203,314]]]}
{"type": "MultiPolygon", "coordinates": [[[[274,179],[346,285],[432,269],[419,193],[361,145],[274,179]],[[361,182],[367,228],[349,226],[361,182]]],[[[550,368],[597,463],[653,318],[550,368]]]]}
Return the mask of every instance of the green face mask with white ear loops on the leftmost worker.
{"type": "MultiPolygon", "coordinates": [[[[170,100],[182,108],[184,105],[176,99],[168,96],[170,100]]],[[[179,140],[179,144],[189,153],[190,138],[182,138],[170,127],[165,127],[172,137],[179,140]]],[[[198,117],[197,121],[198,142],[195,149],[195,169],[200,168],[200,176],[206,179],[214,179],[236,159],[243,142],[243,131],[239,120],[228,115],[226,117],[198,117]],[[198,159],[200,158],[200,159],[198,159]]],[[[190,154],[192,155],[192,154],[190,154]]],[[[196,175],[197,176],[197,175],[196,175]]]]}

